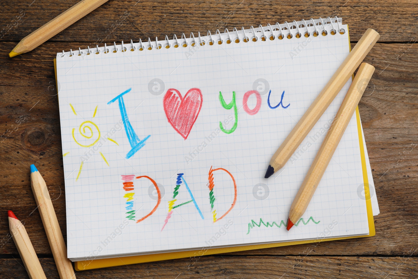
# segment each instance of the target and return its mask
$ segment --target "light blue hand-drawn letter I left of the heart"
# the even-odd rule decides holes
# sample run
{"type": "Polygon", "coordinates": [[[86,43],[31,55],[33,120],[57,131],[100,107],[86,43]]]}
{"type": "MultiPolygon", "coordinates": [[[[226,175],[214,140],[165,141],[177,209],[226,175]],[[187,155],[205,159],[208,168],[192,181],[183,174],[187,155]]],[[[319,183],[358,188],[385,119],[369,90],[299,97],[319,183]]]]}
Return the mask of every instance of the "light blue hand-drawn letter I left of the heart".
{"type": "Polygon", "coordinates": [[[123,126],[125,127],[126,136],[128,138],[129,144],[131,146],[131,150],[126,154],[126,159],[129,159],[138,150],[140,150],[141,148],[143,148],[143,146],[145,145],[145,141],[151,136],[151,135],[148,135],[143,140],[140,140],[138,138],[137,134],[135,133],[135,130],[133,129],[130,121],[129,121],[129,118],[128,118],[128,115],[127,115],[127,111],[126,111],[126,107],[125,107],[125,101],[123,100],[123,95],[125,95],[128,92],[130,92],[131,89],[132,88],[129,88],[128,90],[120,93],[115,98],[113,98],[112,100],[110,100],[110,102],[107,102],[107,105],[110,105],[111,103],[115,102],[116,100],[119,103],[119,110],[120,110],[120,115],[122,116],[123,126]]]}

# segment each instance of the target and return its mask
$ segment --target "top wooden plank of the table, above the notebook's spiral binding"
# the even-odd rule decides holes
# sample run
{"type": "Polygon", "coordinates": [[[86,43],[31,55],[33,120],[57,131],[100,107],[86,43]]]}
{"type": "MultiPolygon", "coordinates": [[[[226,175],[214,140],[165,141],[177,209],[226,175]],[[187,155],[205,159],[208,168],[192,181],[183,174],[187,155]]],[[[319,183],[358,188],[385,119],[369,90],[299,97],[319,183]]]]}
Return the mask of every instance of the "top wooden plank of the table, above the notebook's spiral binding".
{"type": "MultiPolygon", "coordinates": [[[[28,2],[2,1],[1,41],[20,41],[78,1],[28,2]]],[[[337,15],[349,24],[354,41],[367,28],[374,28],[381,35],[380,41],[399,42],[416,39],[417,14],[417,5],[408,0],[396,3],[384,0],[372,3],[359,0],[110,0],[51,41],[113,42],[131,38],[138,41],[155,36],[161,40],[165,35],[171,38],[174,33],[184,32],[189,36],[190,32],[206,34],[207,30],[223,32],[224,28],[232,30],[234,27],[249,28],[251,25],[337,15]]]]}

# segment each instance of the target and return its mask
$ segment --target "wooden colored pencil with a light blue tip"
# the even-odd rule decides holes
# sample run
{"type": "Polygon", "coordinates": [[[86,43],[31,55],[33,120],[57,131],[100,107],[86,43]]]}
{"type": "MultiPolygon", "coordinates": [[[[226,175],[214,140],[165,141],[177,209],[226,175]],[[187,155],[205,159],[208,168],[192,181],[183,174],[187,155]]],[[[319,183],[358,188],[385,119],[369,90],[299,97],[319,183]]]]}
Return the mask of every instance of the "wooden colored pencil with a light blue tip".
{"type": "Polygon", "coordinates": [[[61,279],[75,279],[74,269],[71,261],[67,258],[67,248],[59,228],[51,197],[49,197],[45,180],[43,180],[35,165],[31,165],[31,186],[59,276],[61,279]]]}

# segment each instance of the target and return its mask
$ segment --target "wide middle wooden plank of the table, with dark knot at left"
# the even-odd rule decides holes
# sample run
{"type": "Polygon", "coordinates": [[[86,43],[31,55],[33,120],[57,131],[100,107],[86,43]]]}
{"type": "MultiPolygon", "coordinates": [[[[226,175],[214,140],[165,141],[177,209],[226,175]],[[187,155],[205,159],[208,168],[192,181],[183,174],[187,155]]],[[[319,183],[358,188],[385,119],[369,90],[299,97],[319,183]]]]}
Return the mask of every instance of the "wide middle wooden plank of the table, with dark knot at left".
{"type": "MultiPolygon", "coordinates": [[[[9,59],[12,42],[0,43],[0,212],[13,210],[37,253],[51,250],[31,192],[29,165],[43,174],[66,238],[64,179],[58,100],[52,59],[73,43],[46,43],[36,51],[9,59]],[[13,75],[11,74],[13,73],[13,75]],[[23,119],[18,125],[16,120],[23,119]],[[14,126],[12,126],[12,124],[14,126]],[[14,131],[15,130],[15,131],[14,131]],[[10,134],[9,134],[10,133],[10,134]],[[4,139],[4,140],[3,140],[4,139]]],[[[376,67],[359,105],[377,188],[380,215],[376,236],[323,242],[317,246],[243,251],[241,255],[305,253],[316,255],[403,255],[416,247],[418,230],[418,46],[376,44],[365,61],[376,67]]],[[[8,238],[7,218],[0,218],[0,254],[16,254],[8,238]]],[[[417,252],[414,252],[417,254],[417,252]]]]}

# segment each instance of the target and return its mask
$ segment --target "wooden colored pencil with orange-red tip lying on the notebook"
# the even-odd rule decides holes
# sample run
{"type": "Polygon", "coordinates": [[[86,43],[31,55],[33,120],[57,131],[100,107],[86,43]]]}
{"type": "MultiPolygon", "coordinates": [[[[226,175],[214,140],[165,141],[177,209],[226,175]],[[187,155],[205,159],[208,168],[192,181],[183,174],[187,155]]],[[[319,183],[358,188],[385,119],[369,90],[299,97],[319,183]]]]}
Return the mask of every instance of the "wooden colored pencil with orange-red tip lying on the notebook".
{"type": "Polygon", "coordinates": [[[287,230],[290,230],[293,224],[295,224],[302,217],[306,207],[308,207],[308,204],[311,201],[322,176],[324,175],[329,161],[331,161],[331,157],[334,154],[334,151],[337,148],[354,111],[356,110],[356,107],[370,81],[370,78],[372,77],[373,72],[375,72],[375,67],[372,65],[367,63],[362,63],[360,65],[347,95],[345,96],[336,114],[334,123],[332,123],[331,128],[326,134],[325,139],[315,156],[314,162],[309,168],[308,174],[306,174],[295,200],[292,202],[287,230]]]}

